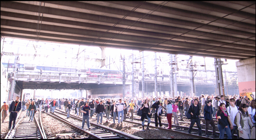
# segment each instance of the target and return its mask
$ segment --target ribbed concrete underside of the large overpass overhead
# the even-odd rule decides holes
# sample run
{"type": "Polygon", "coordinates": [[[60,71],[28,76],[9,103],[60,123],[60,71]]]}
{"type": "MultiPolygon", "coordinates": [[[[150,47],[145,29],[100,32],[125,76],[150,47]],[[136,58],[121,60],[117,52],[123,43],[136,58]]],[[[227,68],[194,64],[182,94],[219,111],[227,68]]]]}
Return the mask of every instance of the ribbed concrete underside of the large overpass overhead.
{"type": "Polygon", "coordinates": [[[255,1],[1,1],[1,35],[248,59],[255,57],[255,1]]]}

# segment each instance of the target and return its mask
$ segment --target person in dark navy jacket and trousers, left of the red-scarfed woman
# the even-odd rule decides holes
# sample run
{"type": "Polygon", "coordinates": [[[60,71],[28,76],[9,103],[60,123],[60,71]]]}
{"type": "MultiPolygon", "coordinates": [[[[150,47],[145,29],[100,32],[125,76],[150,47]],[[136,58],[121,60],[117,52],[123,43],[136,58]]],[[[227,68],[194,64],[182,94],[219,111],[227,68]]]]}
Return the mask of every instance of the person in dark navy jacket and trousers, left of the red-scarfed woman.
{"type": "Polygon", "coordinates": [[[212,135],[213,136],[218,136],[215,132],[215,123],[214,120],[212,119],[212,113],[213,113],[213,109],[212,109],[212,102],[211,101],[207,101],[206,106],[204,106],[204,120],[205,120],[205,136],[209,137],[208,135],[208,129],[209,129],[209,124],[212,126],[212,135]]]}

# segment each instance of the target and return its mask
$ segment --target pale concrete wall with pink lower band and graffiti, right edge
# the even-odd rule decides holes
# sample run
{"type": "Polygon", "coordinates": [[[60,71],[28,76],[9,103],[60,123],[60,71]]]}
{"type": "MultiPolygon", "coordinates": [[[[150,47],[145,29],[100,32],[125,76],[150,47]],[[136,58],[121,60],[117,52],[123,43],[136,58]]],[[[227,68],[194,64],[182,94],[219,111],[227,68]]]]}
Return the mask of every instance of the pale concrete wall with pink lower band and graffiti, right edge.
{"type": "Polygon", "coordinates": [[[255,57],[236,62],[240,96],[255,99],[255,57]]]}

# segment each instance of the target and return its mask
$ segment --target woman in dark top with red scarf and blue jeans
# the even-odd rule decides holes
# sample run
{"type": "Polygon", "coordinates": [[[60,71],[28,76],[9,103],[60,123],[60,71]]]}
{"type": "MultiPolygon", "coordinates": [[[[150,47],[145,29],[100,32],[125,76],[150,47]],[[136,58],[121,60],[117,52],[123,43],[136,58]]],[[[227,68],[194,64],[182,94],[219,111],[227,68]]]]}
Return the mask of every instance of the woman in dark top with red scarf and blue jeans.
{"type": "Polygon", "coordinates": [[[218,129],[220,132],[220,139],[224,139],[224,132],[227,134],[227,139],[232,139],[230,129],[233,129],[233,124],[231,123],[230,117],[228,116],[226,104],[221,103],[218,106],[217,111],[218,129]],[[230,123],[230,127],[229,127],[230,123]]]}

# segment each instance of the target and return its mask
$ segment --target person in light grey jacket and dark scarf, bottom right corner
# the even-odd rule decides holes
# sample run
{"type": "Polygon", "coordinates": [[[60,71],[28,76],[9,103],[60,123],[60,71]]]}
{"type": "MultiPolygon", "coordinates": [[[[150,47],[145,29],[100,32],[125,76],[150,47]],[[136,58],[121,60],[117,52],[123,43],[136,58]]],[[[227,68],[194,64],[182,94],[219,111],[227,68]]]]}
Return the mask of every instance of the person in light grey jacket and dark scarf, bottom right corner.
{"type": "Polygon", "coordinates": [[[239,111],[236,114],[236,125],[239,129],[239,138],[250,139],[250,127],[253,127],[253,123],[249,118],[249,114],[247,112],[248,106],[246,104],[241,104],[239,106],[239,111]],[[243,125],[241,123],[243,121],[243,125]]]}

